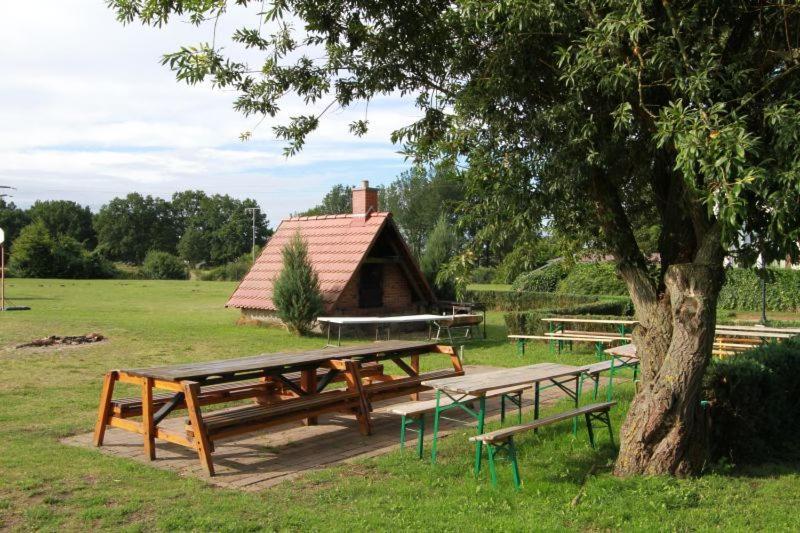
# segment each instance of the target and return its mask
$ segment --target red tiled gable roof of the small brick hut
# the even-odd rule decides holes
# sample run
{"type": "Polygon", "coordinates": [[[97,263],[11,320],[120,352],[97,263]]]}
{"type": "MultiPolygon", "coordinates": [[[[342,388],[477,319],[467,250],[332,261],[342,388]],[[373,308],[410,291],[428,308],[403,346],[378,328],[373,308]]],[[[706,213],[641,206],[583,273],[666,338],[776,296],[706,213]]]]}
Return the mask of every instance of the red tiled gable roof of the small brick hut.
{"type": "Polygon", "coordinates": [[[309,261],[319,276],[325,307],[330,310],[385,228],[397,233],[403,260],[411,275],[418,278],[414,281],[429,301],[435,301],[433,291],[400,237],[391,213],[372,213],[366,218],[363,215],[325,215],[283,220],[225,306],[275,310],[272,282],[283,268],[281,252],[299,231],[308,245],[309,261]]]}

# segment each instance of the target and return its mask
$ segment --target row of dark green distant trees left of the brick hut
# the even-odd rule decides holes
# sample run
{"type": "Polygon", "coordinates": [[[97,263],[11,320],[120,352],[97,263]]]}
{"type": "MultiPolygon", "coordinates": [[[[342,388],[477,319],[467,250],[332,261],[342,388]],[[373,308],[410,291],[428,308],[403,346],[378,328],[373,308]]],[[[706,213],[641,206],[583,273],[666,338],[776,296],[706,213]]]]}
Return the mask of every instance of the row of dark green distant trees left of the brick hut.
{"type": "MultiPolygon", "coordinates": [[[[29,209],[0,199],[9,268],[25,277],[112,277],[113,262],[142,265],[150,252],[175,256],[191,266],[216,266],[250,251],[255,200],[203,191],[182,191],[170,200],[131,193],[114,198],[95,214],[67,200],[37,201],[29,209]]],[[[256,213],[255,240],[271,235],[256,213]]],[[[151,261],[152,263],[152,261],[151,261]]],[[[165,272],[175,272],[174,261],[165,272]]],[[[160,275],[160,274],[153,274],[160,275]]],[[[166,275],[166,274],[164,274],[166,275]]]]}

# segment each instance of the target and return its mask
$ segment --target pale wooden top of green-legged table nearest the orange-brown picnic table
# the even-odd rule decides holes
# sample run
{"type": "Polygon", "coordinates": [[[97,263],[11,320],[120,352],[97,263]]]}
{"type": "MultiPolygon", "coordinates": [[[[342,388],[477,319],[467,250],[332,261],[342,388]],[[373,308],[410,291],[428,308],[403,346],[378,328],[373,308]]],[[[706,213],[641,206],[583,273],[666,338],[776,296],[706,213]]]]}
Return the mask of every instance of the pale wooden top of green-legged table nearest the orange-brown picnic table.
{"type": "Polygon", "coordinates": [[[580,367],[558,363],[537,363],[516,368],[504,368],[479,375],[458,376],[438,380],[426,380],[422,384],[457,394],[481,396],[494,389],[533,384],[566,376],[578,376],[580,367]]]}

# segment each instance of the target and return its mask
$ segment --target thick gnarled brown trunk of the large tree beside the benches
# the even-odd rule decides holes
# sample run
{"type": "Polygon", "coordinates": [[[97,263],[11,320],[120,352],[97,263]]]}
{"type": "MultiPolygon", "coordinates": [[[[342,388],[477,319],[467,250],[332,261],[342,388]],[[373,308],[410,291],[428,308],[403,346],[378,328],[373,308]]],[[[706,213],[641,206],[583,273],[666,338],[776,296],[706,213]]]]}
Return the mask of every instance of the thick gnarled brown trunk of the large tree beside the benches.
{"type": "Polygon", "coordinates": [[[615,474],[684,476],[702,468],[707,443],[699,393],[723,276],[713,261],[671,265],[660,299],[637,309],[642,387],[622,426],[615,474]]]}

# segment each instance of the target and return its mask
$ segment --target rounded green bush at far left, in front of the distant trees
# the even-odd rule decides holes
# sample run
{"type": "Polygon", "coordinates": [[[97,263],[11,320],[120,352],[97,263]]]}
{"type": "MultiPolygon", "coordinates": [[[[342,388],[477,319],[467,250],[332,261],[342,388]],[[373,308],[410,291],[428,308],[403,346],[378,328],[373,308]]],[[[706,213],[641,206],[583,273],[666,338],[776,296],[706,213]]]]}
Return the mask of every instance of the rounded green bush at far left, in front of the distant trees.
{"type": "Polygon", "coordinates": [[[110,278],[113,265],[68,235],[53,236],[37,220],[14,241],[9,270],[23,278],[110,278]]]}

